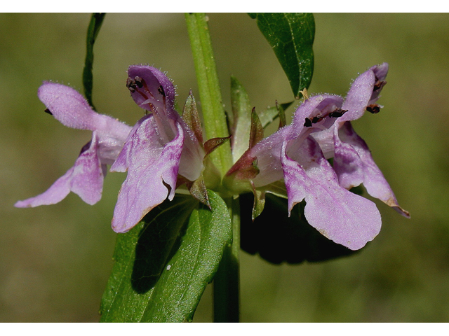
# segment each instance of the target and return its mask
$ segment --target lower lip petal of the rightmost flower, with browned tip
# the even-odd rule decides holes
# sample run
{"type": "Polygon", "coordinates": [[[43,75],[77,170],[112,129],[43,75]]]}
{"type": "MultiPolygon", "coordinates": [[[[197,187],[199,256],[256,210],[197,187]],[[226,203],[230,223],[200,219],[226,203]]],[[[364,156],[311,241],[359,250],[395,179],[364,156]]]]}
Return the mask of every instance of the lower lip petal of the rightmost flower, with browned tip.
{"type": "Polygon", "coordinates": [[[368,145],[356,134],[350,122],[344,123],[338,134],[335,134],[334,169],[343,188],[349,189],[363,183],[368,194],[394,207],[399,214],[410,217],[408,211],[399,207],[368,145]]]}

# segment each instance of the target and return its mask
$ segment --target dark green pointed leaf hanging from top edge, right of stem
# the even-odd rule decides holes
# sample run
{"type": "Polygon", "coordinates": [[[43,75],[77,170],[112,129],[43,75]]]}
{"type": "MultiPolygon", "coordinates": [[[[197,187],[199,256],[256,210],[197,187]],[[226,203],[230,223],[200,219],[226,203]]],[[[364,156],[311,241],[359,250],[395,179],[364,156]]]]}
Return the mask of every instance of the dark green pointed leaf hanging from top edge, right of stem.
{"type": "Polygon", "coordinates": [[[272,46],[285,71],[293,94],[309,87],[314,72],[314,15],[311,13],[250,13],[272,46]]]}

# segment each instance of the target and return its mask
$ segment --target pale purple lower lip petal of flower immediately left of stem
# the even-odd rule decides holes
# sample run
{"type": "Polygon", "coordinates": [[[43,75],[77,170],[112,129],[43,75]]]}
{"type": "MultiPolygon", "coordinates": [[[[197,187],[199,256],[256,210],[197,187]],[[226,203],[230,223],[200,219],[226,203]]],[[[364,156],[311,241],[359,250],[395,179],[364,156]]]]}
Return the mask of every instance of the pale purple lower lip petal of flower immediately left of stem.
{"type": "Polygon", "coordinates": [[[112,218],[115,232],[127,232],[167,197],[173,200],[184,143],[180,123],[173,123],[176,137],[165,143],[155,116],[142,118],[113,165],[112,169],[128,169],[112,218]]]}

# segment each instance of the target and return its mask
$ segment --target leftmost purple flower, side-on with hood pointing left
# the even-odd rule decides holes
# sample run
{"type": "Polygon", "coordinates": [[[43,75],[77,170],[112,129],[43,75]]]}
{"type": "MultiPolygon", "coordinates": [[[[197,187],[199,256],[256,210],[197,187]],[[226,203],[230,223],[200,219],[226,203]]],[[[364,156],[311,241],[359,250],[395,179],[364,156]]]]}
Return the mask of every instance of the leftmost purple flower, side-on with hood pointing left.
{"type": "Polygon", "coordinates": [[[38,97],[46,105],[46,112],[51,113],[63,125],[93,131],[92,140],[81,148],[74,166],[46,192],[18,201],[15,207],[55,204],[63,200],[70,191],[79,195],[84,202],[95,204],[101,199],[106,165],[114,163],[131,127],[93,111],[86,99],[72,87],[44,82],[39,87],[38,97]]]}

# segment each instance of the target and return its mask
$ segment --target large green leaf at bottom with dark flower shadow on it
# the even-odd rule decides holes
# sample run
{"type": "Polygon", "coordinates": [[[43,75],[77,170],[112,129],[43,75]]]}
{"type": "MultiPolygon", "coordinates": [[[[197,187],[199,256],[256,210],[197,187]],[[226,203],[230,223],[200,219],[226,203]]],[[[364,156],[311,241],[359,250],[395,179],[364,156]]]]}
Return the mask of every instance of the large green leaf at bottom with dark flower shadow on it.
{"type": "Polygon", "coordinates": [[[118,235],[100,321],[192,321],[232,240],[225,202],[211,191],[209,201],[177,195],[118,235]]]}

